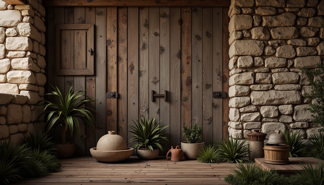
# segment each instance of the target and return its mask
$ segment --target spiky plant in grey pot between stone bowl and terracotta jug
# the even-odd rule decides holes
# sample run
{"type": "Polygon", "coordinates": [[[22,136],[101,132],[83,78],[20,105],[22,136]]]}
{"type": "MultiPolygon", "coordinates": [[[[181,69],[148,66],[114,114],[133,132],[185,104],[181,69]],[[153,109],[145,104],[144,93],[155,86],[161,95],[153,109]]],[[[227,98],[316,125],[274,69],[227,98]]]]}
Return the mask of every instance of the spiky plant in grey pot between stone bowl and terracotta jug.
{"type": "Polygon", "coordinates": [[[128,127],[132,128],[132,131],[128,130],[126,132],[133,133],[132,135],[127,136],[133,137],[128,143],[138,142],[133,146],[136,156],[141,159],[150,160],[155,159],[159,155],[160,149],[163,151],[163,140],[168,141],[168,139],[162,135],[168,132],[160,131],[170,125],[160,128],[160,121],[156,126],[154,126],[155,116],[151,120],[148,120],[147,117],[148,116],[146,116],[146,118],[143,117],[143,119],[140,117],[140,121],[136,120],[136,122],[132,120],[135,126],[128,125],[128,127]]]}

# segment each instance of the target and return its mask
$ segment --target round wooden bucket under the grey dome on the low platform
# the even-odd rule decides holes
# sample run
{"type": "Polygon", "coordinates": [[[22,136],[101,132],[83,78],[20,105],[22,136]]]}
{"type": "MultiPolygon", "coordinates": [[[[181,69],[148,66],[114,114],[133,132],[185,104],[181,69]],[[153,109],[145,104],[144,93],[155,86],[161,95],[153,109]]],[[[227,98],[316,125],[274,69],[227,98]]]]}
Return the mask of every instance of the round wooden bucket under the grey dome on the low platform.
{"type": "Polygon", "coordinates": [[[264,145],[264,162],[272,165],[285,165],[289,163],[289,145],[267,144],[264,145]]]}

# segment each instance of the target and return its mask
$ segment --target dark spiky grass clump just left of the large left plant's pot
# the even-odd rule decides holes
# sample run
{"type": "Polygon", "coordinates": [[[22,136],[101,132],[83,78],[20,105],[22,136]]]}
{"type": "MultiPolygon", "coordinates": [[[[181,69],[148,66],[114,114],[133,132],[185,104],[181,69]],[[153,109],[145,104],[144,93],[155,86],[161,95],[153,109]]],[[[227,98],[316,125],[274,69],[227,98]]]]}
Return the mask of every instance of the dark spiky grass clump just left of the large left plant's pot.
{"type": "Polygon", "coordinates": [[[52,152],[56,150],[54,143],[48,138],[46,133],[41,131],[36,131],[35,133],[29,133],[29,135],[24,135],[22,139],[23,143],[31,149],[39,149],[40,151],[52,152]]]}

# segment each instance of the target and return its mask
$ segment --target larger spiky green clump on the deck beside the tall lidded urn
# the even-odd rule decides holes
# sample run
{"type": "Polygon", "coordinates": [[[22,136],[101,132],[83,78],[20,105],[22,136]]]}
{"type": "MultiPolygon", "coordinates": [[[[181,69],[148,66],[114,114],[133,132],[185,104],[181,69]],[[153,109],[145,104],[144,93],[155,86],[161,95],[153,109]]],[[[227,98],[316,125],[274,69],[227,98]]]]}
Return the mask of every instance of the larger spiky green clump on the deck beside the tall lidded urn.
{"type": "Polygon", "coordinates": [[[217,144],[222,157],[227,159],[230,163],[242,163],[243,161],[249,160],[247,155],[249,154],[250,147],[241,141],[238,137],[233,139],[233,137],[226,138],[217,144]]]}

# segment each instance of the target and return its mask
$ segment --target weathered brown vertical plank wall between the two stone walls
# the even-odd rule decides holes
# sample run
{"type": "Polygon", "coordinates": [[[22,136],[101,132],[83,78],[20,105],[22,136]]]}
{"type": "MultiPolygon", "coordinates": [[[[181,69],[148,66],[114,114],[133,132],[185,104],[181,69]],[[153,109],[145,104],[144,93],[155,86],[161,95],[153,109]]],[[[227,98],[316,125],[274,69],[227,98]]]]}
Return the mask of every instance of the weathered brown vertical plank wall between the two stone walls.
{"type": "MultiPolygon", "coordinates": [[[[203,127],[202,141],[219,141],[228,135],[228,98],[212,98],[213,91],[228,91],[228,7],[48,7],[48,48],[55,46],[56,24],[95,24],[95,75],[57,76],[55,50],[48,49],[48,82],[62,91],[74,86],[86,90],[98,101],[95,109],[96,133],[87,126],[80,140],[67,137],[77,145],[77,155],[90,155],[98,139],[109,130],[126,138],[127,126],[139,116],[156,116],[169,125],[170,146],[185,141],[182,122],[203,127]],[[151,90],[164,94],[167,101],[151,90]],[[118,98],[106,98],[117,91],[118,98]]],[[[72,33],[75,37],[75,34],[72,33]]],[[[80,40],[82,41],[82,40],[80,40]]],[[[77,43],[76,43],[77,44],[77,43]]],[[[67,51],[66,56],[71,58],[67,51]]],[[[80,53],[83,54],[83,53],[80,53]]],[[[64,65],[75,67],[75,62],[64,65]]],[[[65,66],[66,67],[66,66],[65,66]]],[[[52,87],[47,86],[47,91],[52,87]]],[[[50,99],[53,100],[53,99],[50,99]]],[[[52,135],[61,140],[62,128],[52,135]]],[[[133,144],[129,144],[133,146],[133,144]]]]}

